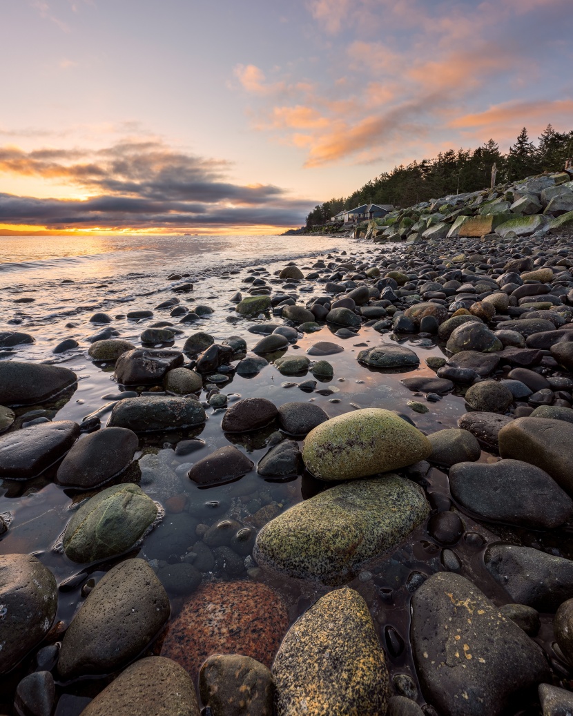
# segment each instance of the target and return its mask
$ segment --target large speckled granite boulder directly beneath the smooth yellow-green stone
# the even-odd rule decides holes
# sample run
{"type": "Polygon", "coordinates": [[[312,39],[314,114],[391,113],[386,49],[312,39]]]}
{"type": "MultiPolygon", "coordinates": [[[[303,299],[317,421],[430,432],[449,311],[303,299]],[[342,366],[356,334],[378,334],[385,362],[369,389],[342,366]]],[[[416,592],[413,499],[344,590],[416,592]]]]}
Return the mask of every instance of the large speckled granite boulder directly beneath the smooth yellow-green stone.
{"type": "Polygon", "coordinates": [[[254,558],[270,571],[340,584],[402,541],[429,511],[422,489],[398,475],[337,485],[267,523],[254,558]]]}

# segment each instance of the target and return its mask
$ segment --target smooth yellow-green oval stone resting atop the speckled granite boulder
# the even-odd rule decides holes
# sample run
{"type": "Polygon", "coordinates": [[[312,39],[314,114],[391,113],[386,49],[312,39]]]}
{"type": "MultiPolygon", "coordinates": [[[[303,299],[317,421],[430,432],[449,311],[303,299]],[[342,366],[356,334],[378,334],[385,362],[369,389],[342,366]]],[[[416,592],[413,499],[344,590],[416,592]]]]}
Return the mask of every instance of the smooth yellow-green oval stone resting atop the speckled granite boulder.
{"type": "Polygon", "coordinates": [[[413,465],[432,452],[428,438],[390,410],[333,417],[304,440],[304,465],[319,480],[355,480],[413,465]]]}

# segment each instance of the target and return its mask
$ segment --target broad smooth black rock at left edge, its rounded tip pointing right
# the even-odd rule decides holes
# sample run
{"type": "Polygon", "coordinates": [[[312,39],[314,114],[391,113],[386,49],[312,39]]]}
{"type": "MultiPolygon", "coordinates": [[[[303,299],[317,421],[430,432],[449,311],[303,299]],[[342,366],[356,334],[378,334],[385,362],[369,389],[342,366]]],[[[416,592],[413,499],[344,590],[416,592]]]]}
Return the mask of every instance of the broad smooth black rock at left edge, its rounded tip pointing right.
{"type": "Polygon", "coordinates": [[[77,375],[62,366],[2,361],[0,405],[36,405],[56,397],[76,382],[77,375]]]}

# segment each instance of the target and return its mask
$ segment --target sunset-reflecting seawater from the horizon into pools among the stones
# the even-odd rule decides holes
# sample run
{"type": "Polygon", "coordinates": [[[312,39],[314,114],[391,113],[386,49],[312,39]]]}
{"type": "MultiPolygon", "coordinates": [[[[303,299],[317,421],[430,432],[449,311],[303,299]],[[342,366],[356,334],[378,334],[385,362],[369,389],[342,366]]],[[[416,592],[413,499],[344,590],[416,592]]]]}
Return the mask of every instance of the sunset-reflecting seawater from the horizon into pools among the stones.
{"type": "MultiPolygon", "coordinates": [[[[52,242],[53,238],[49,237],[49,242],[52,242]]],[[[43,242],[44,237],[34,241],[43,242]]],[[[47,243],[40,248],[34,248],[32,243],[34,242],[30,240],[10,239],[0,250],[0,258],[14,259],[0,264],[0,285],[4,286],[0,294],[4,299],[1,304],[0,330],[21,330],[34,335],[37,342],[12,350],[4,349],[1,358],[62,362],[77,372],[79,377],[77,390],[55,415],[49,414],[56,420],[76,422],[81,422],[86,415],[100,410],[109,403],[110,400],[106,399],[105,395],[117,392],[112,367],[96,366],[87,356],[89,344],[85,339],[101,327],[94,326],[89,321],[90,316],[96,311],[109,313],[114,318],[112,326],[119,330],[120,337],[135,345],[140,344],[139,336],[145,327],[165,319],[173,321],[176,327],[183,330],[183,333],[175,339],[173,346],[175,348],[180,349],[186,337],[198,330],[211,333],[217,342],[231,335],[240,335],[246,339],[248,347],[251,348],[260,336],[249,332],[249,326],[254,323],[269,322],[269,319],[240,320],[236,323],[226,321],[227,316],[232,316],[233,319],[236,317],[234,304],[228,299],[235,291],[246,291],[249,288],[248,284],[241,284],[242,279],[247,275],[246,270],[239,271],[241,267],[243,269],[246,266],[260,267],[261,277],[269,280],[274,278],[274,271],[281,269],[284,263],[294,258],[298,258],[297,265],[304,271],[304,267],[311,266],[317,258],[326,258],[328,253],[336,256],[340,251],[346,250],[349,256],[351,253],[354,255],[360,253],[365,259],[380,256],[382,253],[378,249],[372,250],[371,245],[350,240],[332,238],[315,240],[291,236],[202,237],[201,239],[175,237],[167,240],[158,237],[136,237],[131,242],[127,237],[97,241],[87,238],[85,241],[83,239],[79,241],[76,248],[72,248],[71,245],[65,246],[66,241],[62,241],[64,246],[60,253],[56,243],[47,243]],[[166,241],[165,245],[162,241],[166,241]],[[105,251],[102,246],[105,247],[105,251]],[[193,247],[192,250],[190,246],[193,247]],[[7,251],[14,253],[7,255],[7,251]],[[255,258],[248,258],[249,252],[255,258]],[[308,260],[299,258],[304,256],[312,258],[308,260]],[[7,263],[10,264],[9,268],[6,268],[7,263]],[[136,273],[130,275],[130,271],[136,273]],[[130,321],[125,317],[125,312],[130,309],[154,309],[160,301],[173,296],[169,289],[170,281],[166,276],[175,271],[179,274],[191,274],[188,280],[195,284],[191,293],[178,294],[181,302],[191,305],[208,304],[215,309],[211,316],[206,316],[195,324],[178,324],[178,319],[170,319],[168,310],[155,311],[153,318],[139,321],[130,321]],[[228,273],[223,273],[224,271],[228,273]],[[237,271],[237,273],[230,273],[230,271],[237,271]],[[74,281],[74,283],[62,284],[62,281],[74,281]],[[28,304],[12,303],[14,299],[22,297],[35,300],[28,304]],[[14,319],[21,322],[15,324],[12,322],[14,319]],[[52,354],[54,346],[67,337],[77,339],[80,347],[72,352],[54,356],[52,354]]],[[[309,284],[309,287],[312,290],[306,292],[301,291],[299,286],[297,291],[299,302],[304,302],[313,295],[322,295],[321,284],[309,284]]],[[[270,321],[282,323],[282,319],[273,319],[272,316],[270,321]]],[[[392,340],[390,334],[380,337],[380,334],[367,326],[360,329],[357,337],[349,339],[333,337],[333,332],[334,329],[323,326],[319,332],[304,335],[296,345],[288,349],[289,355],[300,354],[306,352],[310,344],[319,340],[333,340],[345,348],[340,354],[326,357],[334,367],[334,377],[332,380],[319,382],[314,392],[303,392],[297,387],[297,384],[311,377],[310,374],[285,377],[272,364],[266,366],[256,377],[247,378],[231,374],[231,379],[223,384],[221,392],[230,395],[230,400],[237,400],[239,397],[266,397],[277,406],[284,402],[309,400],[322,407],[329,417],[357,408],[384,407],[407,413],[417,427],[426,433],[446,427],[457,427],[458,417],[466,412],[463,397],[451,394],[446,395],[439,402],[428,402],[426,405],[430,410],[422,415],[407,407],[406,403],[413,398],[413,393],[400,383],[401,379],[413,375],[433,377],[433,371],[425,366],[425,358],[430,355],[443,355],[440,347],[433,345],[430,348],[420,348],[413,343],[415,336],[402,337],[400,342],[404,342],[418,353],[420,367],[405,373],[388,373],[358,364],[357,353],[365,345],[372,347],[382,340],[392,340]]],[[[423,401],[424,398],[418,396],[415,400],[423,401]]],[[[30,410],[32,408],[27,407],[20,408],[16,412],[22,415],[30,410]]],[[[110,410],[111,407],[101,414],[102,427],[110,415],[110,410]]],[[[249,523],[256,520],[256,513],[264,505],[274,503],[278,505],[279,511],[283,511],[324,488],[324,484],[308,474],[294,480],[276,482],[264,480],[255,472],[234,483],[198,488],[186,478],[186,472],[191,467],[186,463],[195,463],[213,450],[228,445],[228,440],[231,439],[221,430],[224,412],[212,408],[208,408],[206,412],[208,420],[203,427],[191,431],[173,431],[140,437],[142,451],[158,452],[162,463],[178,471],[179,493],[186,495],[193,514],[199,516],[202,523],[210,525],[223,517],[233,517],[240,522],[249,523]],[[191,455],[175,455],[175,444],[188,437],[200,437],[205,444],[191,455]]],[[[242,445],[254,463],[268,449],[266,438],[269,432],[256,433],[246,442],[240,442],[244,436],[236,438],[239,440],[239,446],[242,445]]],[[[496,460],[496,456],[482,453],[481,460],[496,460]]],[[[82,499],[82,495],[78,496],[77,490],[63,490],[52,482],[56,468],[57,466],[50,468],[36,480],[17,483],[4,481],[0,486],[0,513],[10,511],[13,518],[9,531],[4,538],[1,538],[0,553],[34,553],[49,566],[60,585],[56,621],[62,621],[67,625],[82,604],[82,586],[87,579],[93,577],[97,581],[112,564],[125,556],[107,561],[105,564],[81,566],[70,561],[62,553],[53,551],[54,543],[72,514],[70,508],[82,499]],[[72,579],[75,576],[77,579],[72,579]]],[[[430,502],[433,506],[439,506],[440,511],[448,504],[447,500],[450,499],[448,480],[439,470],[433,469],[428,475],[425,490],[430,502]]],[[[155,498],[154,495],[152,496],[155,498]]],[[[515,528],[486,526],[475,521],[472,516],[463,513],[462,516],[466,533],[478,533],[482,536],[483,543],[478,543],[476,546],[462,539],[453,547],[453,551],[463,563],[460,574],[475,581],[498,604],[504,604],[507,596],[502,594],[501,589],[489,578],[483,566],[482,555],[487,542],[496,541],[498,535],[503,534],[509,541],[521,541],[539,548],[550,548],[557,544],[564,556],[568,556],[569,540],[564,532],[554,531],[551,536],[542,538],[539,534],[526,533],[515,528]]],[[[165,520],[169,518],[168,513],[165,520]]],[[[362,579],[357,577],[351,582],[352,586],[365,596],[370,606],[382,645],[387,651],[390,674],[408,673],[417,681],[408,646],[411,595],[406,583],[415,571],[433,574],[444,569],[440,562],[441,552],[441,548],[430,538],[423,524],[393,553],[380,556],[365,566],[364,569],[373,575],[372,579],[364,580],[362,576],[362,579]],[[388,596],[387,590],[392,590],[391,597],[388,596]],[[399,654],[391,652],[388,632],[390,628],[395,629],[406,644],[399,654]]],[[[145,541],[140,549],[136,548],[130,556],[138,554],[147,556],[145,541]]],[[[217,579],[225,577],[224,574],[214,576],[217,579]]],[[[279,579],[267,574],[261,579],[281,592],[292,621],[313,604],[317,596],[328,591],[324,586],[279,579]]],[[[172,597],[170,601],[173,617],[178,613],[184,597],[172,597]]],[[[547,617],[542,621],[544,626],[536,640],[551,654],[552,633],[548,627],[551,620],[547,617]]],[[[53,634],[52,642],[56,640],[57,634],[53,634]]],[[[11,693],[19,678],[30,668],[33,670],[33,661],[29,659],[27,662],[24,661],[15,672],[0,680],[0,710],[10,712],[11,693]]],[[[59,694],[69,697],[60,700],[57,715],[79,714],[85,707],[84,697],[95,695],[105,682],[106,679],[87,679],[74,684],[59,684],[59,694]]],[[[420,703],[423,703],[421,695],[420,703]]],[[[533,710],[531,713],[536,711],[533,710]]]]}

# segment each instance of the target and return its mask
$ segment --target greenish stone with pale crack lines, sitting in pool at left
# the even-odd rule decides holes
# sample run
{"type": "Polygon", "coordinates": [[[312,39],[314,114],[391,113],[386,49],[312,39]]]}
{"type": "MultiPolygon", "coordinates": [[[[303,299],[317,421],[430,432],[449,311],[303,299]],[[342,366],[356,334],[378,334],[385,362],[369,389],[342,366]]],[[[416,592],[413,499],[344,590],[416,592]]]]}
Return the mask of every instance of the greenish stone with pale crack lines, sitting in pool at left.
{"type": "Polygon", "coordinates": [[[113,485],[87,500],[69,521],[64,552],[74,562],[121,554],[158,516],[158,506],[138,485],[113,485]]]}

